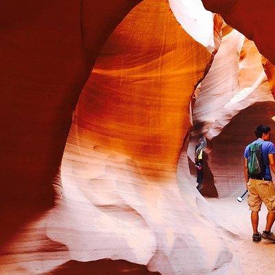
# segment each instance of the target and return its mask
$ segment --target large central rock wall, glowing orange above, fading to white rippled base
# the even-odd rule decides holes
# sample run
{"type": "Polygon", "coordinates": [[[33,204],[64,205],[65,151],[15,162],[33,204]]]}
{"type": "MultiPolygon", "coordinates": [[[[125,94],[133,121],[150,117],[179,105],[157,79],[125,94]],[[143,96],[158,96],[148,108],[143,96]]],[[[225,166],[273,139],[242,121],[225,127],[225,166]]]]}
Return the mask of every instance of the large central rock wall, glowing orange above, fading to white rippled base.
{"type": "Polygon", "coordinates": [[[48,230],[72,259],[230,274],[232,254],[216,225],[192,213],[196,193],[181,197],[175,173],[189,99],[211,58],[165,2],[142,2],[109,37],[74,114],[62,166],[66,206],[48,230]]]}

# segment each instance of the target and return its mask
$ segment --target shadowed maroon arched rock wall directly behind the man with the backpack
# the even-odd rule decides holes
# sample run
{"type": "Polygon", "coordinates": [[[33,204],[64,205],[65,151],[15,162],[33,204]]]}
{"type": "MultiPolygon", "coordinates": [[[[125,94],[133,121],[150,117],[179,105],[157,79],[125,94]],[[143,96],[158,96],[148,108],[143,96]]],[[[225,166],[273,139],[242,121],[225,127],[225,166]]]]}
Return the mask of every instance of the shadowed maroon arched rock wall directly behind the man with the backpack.
{"type": "Polygon", "coordinates": [[[270,125],[274,131],[274,108],[274,101],[255,102],[239,111],[222,133],[212,140],[208,164],[214,175],[219,198],[236,197],[243,192],[244,147],[256,139],[254,129],[259,124],[270,125]]]}

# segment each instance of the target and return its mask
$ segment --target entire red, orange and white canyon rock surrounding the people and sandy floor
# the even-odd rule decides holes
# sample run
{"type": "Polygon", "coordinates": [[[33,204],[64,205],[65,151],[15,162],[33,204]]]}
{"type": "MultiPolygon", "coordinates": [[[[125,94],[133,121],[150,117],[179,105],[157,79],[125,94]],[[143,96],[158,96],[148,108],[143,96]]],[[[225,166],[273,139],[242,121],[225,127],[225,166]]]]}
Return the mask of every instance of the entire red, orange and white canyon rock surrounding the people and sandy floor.
{"type": "Polygon", "coordinates": [[[203,1],[265,58],[201,1],[3,4],[1,274],[240,274],[192,160],[205,135],[206,195],[231,196],[274,124],[274,44],[243,3],[203,1]]]}

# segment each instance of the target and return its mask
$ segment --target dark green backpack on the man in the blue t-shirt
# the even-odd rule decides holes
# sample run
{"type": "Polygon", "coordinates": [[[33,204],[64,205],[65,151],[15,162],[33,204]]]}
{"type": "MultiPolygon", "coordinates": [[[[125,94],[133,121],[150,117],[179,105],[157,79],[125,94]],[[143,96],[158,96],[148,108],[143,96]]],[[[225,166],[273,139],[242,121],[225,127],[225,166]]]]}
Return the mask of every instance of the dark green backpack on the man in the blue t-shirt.
{"type": "Polygon", "coordinates": [[[261,178],[265,175],[265,164],[263,161],[263,143],[250,144],[250,158],[248,161],[248,175],[261,178]]]}

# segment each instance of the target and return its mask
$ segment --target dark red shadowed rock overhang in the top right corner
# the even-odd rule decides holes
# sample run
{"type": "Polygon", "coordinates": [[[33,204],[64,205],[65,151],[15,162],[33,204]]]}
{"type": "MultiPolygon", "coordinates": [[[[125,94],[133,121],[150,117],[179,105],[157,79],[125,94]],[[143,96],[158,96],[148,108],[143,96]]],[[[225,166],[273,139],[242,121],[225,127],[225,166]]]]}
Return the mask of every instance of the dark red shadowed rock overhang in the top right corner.
{"type": "Polygon", "coordinates": [[[228,25],[253,40],[263,56],[275,64],[272,0],[201,0],[207,10],[221,14],[228,25]]]}

